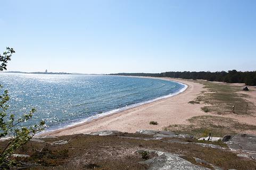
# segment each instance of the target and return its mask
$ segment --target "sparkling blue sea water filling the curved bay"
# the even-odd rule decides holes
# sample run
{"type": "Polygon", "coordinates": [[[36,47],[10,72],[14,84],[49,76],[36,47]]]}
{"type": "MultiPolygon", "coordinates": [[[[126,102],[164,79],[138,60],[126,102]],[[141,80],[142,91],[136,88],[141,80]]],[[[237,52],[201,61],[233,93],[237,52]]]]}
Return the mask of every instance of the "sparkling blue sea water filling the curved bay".
{"type": "Polygon", "coordinates": [[[60,129],[163,99],[186,85],[155,78],[103,75],[44,75],[1,73],[10,95],[9,113],[37,112],[30,126],[45,120],[46,130],[60,129]]]}

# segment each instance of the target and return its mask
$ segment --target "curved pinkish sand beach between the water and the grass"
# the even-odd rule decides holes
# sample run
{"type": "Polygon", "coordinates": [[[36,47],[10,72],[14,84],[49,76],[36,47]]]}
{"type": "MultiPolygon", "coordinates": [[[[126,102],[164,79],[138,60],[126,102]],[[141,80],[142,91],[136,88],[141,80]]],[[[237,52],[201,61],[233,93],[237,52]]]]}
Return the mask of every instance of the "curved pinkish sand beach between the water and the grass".
{"type": "Polygon", "coordinates": [[[162,99],[155,99],[155,101],[112,114],[106,114],[73,126],[46,131],[38,134],[38,136],[65,136],[100,130],[119,130],[123,132],[136,132],[139,129],[162,130],[170,124],[187,124],[187,119],[196,115],[205,115],[201,111],[200,106],[188,104],[189,101],[193,100],[202,91],[203,86],[201,84],[176,78],[161,77],[158,79],[171,80],[185,84],[187,87],[178,94],[167,95],[167,97],[162,96],[162,99]],[[152,126],[149,124],[150,121],[157,121],[159,124],[152,126]]]}

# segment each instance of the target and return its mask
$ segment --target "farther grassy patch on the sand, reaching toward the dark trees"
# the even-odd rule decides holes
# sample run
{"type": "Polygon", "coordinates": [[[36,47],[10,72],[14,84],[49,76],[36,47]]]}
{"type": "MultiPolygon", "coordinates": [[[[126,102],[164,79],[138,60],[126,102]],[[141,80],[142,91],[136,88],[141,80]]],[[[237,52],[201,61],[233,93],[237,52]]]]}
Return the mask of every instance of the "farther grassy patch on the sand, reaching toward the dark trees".
{"type": "Polygon", "coordinates": [[[203,107],[204,112],[213,112],[217,114],[230,114],[233,105],[236,114],[250,114],[255,109],[253,103],[246,101],[247,94],[240,94],[242,86],[232,86],[231,84],[206,82],[203,80],[194,81],[201,83],[206,89],[194,101],[189,103],[204,103],[210,106],[203,107]]]}

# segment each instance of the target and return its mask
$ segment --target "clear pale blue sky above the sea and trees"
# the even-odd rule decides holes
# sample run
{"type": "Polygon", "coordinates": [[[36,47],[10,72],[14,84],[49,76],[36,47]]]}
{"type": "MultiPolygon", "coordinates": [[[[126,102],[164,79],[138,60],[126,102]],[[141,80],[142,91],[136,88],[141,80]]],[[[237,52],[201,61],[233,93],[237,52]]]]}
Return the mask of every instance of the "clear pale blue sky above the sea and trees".
{"type": "Polygon", "coordinates": [[[256,1],[0,0],[8,70],[256,70],[256,1]]]}

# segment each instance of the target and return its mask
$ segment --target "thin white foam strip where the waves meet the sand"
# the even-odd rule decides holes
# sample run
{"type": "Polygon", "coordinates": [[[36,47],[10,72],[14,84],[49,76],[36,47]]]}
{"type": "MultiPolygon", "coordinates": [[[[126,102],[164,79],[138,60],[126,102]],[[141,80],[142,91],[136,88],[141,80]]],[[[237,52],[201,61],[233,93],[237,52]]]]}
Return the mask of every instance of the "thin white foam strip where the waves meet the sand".
{"type": "Polygon", "coordinates": [[[152,103],[152,102],[155,102],[155,101],[158,101],[158,100],[161,100],[161,99],[166,99],[168,97],[175,96],[177,94],[180,94],[180,93],[184,92],[187,89],[187,87],[188,87],[186,84],[183,84],[183,83],[180,83],[180,82],[176,82],[174,80],[169,80],[169,81],[175,82],[175,83],[178,83],[178,84],[181,84],[181,85],[184,85],[184,87],[181,88],[178,92],[175,92],[175,93],[171,93],[171,94],[164,95],[164,96],[161,96],[161,97],[156,97],[155,99],[144,101],[144,102],[139,102],[139,103],[127,105],[127,106],[124,106],[122,108],[114,109],[114,110],[111,110],[111,111],[108,111],[108,112],[98,113],[98,114],[92,115],[92,116],[90,116],[88,118],[82,119],[80,121],[76,121],[76,122],[67,124],[67,125],[65,125],[65,126],[63,126],[61,128],[58,127],[56,129],[54,129],[54,128],[48,129],[48,130],[42,131],[42,132],[40,132],[38,134],[42,134],[42,133],[50,132],[50,131],[55,131],[55,130],[60,130],[60,129],[64,129],[64,128],[69,128],[69,127],[72,127],[72,126],[76,126],[77,124],[85,123],[85,122],[88,122],[88,121],[93,120],[93,119],[104,117],[106,115],[118,113],[118,112],[125,111],[125,110],[132,109],[132,108],[136,108],[137,106],[141,106],[141,105],[147,104],[147,103],[152,103]]]}

